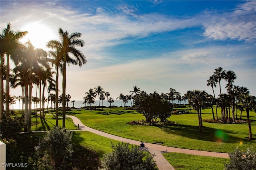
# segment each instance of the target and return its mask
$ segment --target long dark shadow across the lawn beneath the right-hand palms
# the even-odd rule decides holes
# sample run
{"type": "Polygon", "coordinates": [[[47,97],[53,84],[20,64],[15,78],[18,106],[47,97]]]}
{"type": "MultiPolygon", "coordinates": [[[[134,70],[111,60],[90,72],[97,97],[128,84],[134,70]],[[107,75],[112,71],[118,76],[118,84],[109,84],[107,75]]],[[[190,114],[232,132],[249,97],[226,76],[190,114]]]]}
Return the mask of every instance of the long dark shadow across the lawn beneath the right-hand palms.
{"type": "Polygon", "coordinates": [[[245,140],[244,138],[234,137],[230,135],[234,134],[232,131],[219,130],[210,127],[202,127],[202,132],[199,131],[198,126],[192,125],[176,124],[171,126],[162,126],[159,128],[169,134],[175,134],[178,136],[202,141],[237,143],[238,141],[245,140]]]}

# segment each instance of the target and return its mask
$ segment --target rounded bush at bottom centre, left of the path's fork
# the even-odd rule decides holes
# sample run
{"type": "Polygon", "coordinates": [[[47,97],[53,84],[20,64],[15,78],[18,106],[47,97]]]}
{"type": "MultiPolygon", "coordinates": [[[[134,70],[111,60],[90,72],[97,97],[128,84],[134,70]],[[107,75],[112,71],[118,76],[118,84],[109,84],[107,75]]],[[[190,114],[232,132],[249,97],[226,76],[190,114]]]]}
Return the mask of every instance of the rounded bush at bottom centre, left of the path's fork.
{"type": "Polygon", "coordinates": [[[112,144],[112,148],[112,152],[104,155],[100,170],[157,170],[152,157],[139,151],[137,146],[129,148],[127,143],[118,143],[112,144]]]}

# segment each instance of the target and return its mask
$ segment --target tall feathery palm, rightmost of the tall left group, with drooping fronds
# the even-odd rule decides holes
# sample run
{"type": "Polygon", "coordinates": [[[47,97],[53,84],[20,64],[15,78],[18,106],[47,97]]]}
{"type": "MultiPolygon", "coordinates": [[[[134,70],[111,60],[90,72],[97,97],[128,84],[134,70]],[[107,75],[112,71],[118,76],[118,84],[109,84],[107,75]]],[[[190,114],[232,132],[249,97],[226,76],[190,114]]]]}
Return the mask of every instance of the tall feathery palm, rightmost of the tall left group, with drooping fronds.
{"type": "Polygon", "coordinates": [[[71,64],[78,64],[80,67],[82,64],[86,64],[86,58],[84,54],[76,49],[76,46],[83,47],[84,41],[79,39],[81,37],[81,33],[74,32],[69,34],[69,32],[63,31],[62,28],[58,30],[59,37],[60,37],[60,44],[61,44],[61,55],[63,56],[63,77],[62,77],[62,127],[65,127],[65,115],[66,115],[66,107],[64,105],[66,101],[66,62],[71,64]],[[69,54],[72,54],[75,59],[72,59],[69,54]]]}

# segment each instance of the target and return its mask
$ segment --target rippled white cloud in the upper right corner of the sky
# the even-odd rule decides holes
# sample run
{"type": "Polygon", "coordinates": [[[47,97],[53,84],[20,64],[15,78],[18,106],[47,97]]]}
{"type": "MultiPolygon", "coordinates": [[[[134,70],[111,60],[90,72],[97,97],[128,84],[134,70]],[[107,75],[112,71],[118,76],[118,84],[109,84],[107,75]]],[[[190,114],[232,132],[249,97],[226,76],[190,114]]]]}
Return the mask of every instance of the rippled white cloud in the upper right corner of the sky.
{"type": "Polygon", "coordinates": [[[256,1],[240,4],[232,12],[207,14],[204,35],[215,40],[256,41],[256,1]]]}

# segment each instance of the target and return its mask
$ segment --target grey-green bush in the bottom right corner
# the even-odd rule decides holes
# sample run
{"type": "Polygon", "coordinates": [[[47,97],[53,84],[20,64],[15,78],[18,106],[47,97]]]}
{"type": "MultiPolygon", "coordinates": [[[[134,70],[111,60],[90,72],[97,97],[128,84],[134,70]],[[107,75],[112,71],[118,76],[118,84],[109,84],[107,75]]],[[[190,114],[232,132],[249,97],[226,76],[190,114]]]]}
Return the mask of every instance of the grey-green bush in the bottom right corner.
{"type": "Polygon", "coordinates": [[[230,164],[225,164],[224,170],[256,170],[256,150],[252,147],[246,150],[245,156],[238,148],[228,155],[230,164]]]}

